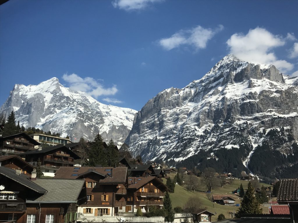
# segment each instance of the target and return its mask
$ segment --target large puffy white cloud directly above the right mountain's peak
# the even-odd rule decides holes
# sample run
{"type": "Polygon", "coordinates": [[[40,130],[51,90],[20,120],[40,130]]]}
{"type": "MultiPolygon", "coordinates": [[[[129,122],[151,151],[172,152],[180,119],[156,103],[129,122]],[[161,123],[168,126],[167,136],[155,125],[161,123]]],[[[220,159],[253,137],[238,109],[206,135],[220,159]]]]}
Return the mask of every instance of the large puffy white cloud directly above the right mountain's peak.
{"type": "Polygon", "coordinates": [[[293,69],[293,64],[279,60],[272,51],[274,48],[285,45],[285,39],[273,35],[266,29],[257,27],[250,29],[244,35],[235,33],[226,42],[230,52],[241,60],[256,64],[273,64],[283,72],[293,69]]]}

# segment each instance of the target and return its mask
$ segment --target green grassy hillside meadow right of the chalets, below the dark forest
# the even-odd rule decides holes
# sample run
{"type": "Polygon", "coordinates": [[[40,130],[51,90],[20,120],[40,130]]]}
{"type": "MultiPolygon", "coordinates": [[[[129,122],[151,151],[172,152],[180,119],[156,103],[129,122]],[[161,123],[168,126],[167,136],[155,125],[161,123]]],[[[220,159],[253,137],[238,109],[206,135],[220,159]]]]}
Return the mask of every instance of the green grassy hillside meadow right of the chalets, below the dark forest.
{"type": "MultiPolygon", "coordinates": [[[[175,174],[170,174],[170,178],[173,179],[175,177],[175,174]]],[[[194,176],[193,176],[194,177],[194,176]]],[[[189,176],[184,175],[184,182],[187,182],[189,176]]],[[[214,190],[212,190],[212,193],[205,193],[201,191],[206,191],[206,188],[201,184],[201,178],[195,177],[195,180],[197,180],[198,187],[197,189],[199,191],[187,191],[183,186],[176,185],[175,186],[175,193],[170,193],[170,198],[172,200],[172,206],[173,208],[180,206],[181,208],[184,208],[184,205],[186,204],[187,200],[190,197],[196,197],[201,202],[201,208],[206,209],[207,211],[210,211],[212,213],[215,213],[215,216],[212,216],[212,222],[216,221],[218,218],[218,215],[223,213],[226,217],[226,219],[230,218],[230,213],[236,213],[238,210],[238,207],[236,206],[225,206],[225,205],[219,205],[217,203],[212,202],[212,195],[215,194],[221,194],[221,195],[227,195],[232,197],[235,201],[235,204],[240,204],[240,201],[242,198],[240,198],[238,195],[230,194],[230,192],[237,189],[240,184],[242,183],[242,186],[244,189],[247,189],[247,185],[249,181],[244,180],[232,180],[232,183],[230,185],[226,185],[224,187],[217,187],[214,190]],[[208,199],[209,196],[209,199],[208,199]]],[[[166,183],[166,179],[163,179],[163,182],[166,183]]],[[[269,186],[267,184],[260,183],[260,186],[269,186]]],[[[263,213],[268,213],[268,208],[263,207],[263,213]]]]}

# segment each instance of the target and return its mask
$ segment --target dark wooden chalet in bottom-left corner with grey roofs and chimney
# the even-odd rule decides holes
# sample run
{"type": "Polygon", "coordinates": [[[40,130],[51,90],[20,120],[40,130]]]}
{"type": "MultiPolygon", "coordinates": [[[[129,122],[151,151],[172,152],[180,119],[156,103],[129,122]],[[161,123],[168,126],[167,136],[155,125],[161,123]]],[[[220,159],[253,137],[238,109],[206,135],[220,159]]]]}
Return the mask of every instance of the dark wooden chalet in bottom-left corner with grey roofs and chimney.
{"type": "Polygon", "coordinates": [[[36,179],[0,167],[0,219],[16,223],[76,222],[77,205],[86,202],[84,180],[36,179]]]}

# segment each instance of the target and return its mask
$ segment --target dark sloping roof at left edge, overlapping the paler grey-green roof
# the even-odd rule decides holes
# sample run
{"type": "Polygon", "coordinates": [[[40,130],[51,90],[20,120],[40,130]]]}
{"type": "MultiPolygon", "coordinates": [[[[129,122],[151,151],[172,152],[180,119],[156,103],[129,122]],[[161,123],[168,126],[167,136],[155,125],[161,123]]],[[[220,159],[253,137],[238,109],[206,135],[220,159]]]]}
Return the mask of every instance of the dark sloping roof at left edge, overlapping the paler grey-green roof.
{"type": "Polygon", "coordinates": [[[46,193],[47,191],[42,186],[37,185],[35,181],[33,182],[27,179],[27,175],[24,175],[24,174],[17,175],[14,169],[10,169],[7,167],[0,167],[0,175],[6,176],[38,193],[46,193]]]}

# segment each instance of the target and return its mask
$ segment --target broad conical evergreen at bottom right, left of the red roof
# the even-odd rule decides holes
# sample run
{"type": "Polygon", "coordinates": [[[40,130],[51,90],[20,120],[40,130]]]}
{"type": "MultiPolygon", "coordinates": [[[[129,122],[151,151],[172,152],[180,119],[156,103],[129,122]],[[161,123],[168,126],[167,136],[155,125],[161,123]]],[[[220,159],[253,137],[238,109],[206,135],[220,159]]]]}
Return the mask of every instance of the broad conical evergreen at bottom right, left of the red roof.
{"type": "Polygon", "coordinates": [[[260,209],[260,204],[254,197],[254,187],[252,183],[248,183],[248,189],[243,196],[241,201],[240,208],[236,213],[236,217],[240,218],[243,214],[261,214],[262,209],[260,209]]]}

